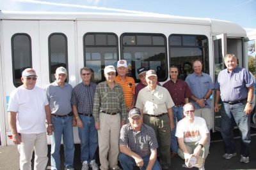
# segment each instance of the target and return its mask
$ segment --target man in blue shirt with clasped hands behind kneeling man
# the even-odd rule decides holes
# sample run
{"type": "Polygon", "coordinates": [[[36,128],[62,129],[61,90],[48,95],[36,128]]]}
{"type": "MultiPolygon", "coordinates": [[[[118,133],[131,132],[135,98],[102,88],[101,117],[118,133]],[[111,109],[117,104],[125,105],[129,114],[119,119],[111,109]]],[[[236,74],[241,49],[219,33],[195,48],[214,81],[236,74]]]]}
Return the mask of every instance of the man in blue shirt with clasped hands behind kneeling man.
{"type": "MultiPolygon", "coordinates": [[[[190,102],[195,106],[195,116],[205,119],[208,130],[212,129],[212,111],[211,95],[214,85],[209,74],[202,72],[202,62],[195,60],[193,62],[194,73],[186,78],[189,89],[192,92],[190,102]]],[[[208,134],[208,143],[210,143],[210,133],[208,134]]]]}

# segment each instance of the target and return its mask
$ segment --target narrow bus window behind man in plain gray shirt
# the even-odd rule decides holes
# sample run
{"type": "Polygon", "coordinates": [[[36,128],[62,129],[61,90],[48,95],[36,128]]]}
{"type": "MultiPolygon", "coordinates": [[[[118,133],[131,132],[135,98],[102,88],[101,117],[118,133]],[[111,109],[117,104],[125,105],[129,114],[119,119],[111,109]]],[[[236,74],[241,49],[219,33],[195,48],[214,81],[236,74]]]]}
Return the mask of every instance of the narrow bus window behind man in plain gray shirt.
{"type": "MultiPolygon", "coordinates": [[[[58,67],[65,67],[68,71],[67,36],[54,33],[49,36],[49,73],[50,82],[55,81],[55,71],[58,67]]],[[[67,80],[68,81],[68,78],[67,80]]]]}

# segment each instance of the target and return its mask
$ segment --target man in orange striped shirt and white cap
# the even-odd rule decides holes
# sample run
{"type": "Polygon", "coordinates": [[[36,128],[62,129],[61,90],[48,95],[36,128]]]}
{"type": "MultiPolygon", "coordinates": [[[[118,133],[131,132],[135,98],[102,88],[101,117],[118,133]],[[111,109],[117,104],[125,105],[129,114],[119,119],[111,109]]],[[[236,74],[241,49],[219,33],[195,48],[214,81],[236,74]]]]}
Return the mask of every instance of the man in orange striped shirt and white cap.
{"type": "Polygon", "coordinates": [[[119,83],[124,91],[126,111],[134,108],[134,94],[135,94],[135,81],[132,77],[126,76],[127,62],[126,60],[118,60],[116,65],[116,71],[118,76],[115,78],[115,82],[119,83]]]}

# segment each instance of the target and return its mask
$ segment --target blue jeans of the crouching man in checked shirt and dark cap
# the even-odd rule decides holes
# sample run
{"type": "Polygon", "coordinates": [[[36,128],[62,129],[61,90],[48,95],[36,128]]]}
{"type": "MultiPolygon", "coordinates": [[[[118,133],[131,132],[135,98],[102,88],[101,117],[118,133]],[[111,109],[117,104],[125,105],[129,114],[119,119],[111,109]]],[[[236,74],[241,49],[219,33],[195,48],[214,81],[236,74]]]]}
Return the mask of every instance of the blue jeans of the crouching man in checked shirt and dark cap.
{"type": "MultiPolygon", "coordinates": [[[[143,169],[143,170],[147,169],[149,157],[150,157],[150,155],[142,158],[144,164],[143,164],[143,167],[141,167],[141,169],[143,169]]],[[[132,157],[125,155],[124,153],[120,153],[119,161],[124,170],[131,170],[131,169],[133,169],[133,166],[136,166],[135,160],[132,157]]],[[[162,169],[162,167],[160,166],[158,160],[156,159],[156,162],[155,162],[154,166],[152,167],[152,170],[161,170],[161,169],[162,169]]]]}

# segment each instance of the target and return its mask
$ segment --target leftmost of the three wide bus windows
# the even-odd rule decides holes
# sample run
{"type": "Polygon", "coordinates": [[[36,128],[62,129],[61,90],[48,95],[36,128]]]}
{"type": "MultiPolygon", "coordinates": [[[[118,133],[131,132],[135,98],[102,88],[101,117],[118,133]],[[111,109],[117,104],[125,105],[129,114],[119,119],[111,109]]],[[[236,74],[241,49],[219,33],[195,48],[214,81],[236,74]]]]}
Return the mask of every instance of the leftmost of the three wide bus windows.
{"type": "Polygon", "coordinates": [[[104,81],[104,67],[116,65],[118,39],[113,33],[84,34],[84,66],[92,69],[92,81],[104,81]]]}

